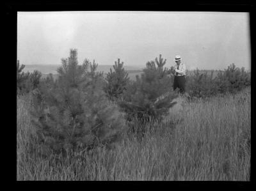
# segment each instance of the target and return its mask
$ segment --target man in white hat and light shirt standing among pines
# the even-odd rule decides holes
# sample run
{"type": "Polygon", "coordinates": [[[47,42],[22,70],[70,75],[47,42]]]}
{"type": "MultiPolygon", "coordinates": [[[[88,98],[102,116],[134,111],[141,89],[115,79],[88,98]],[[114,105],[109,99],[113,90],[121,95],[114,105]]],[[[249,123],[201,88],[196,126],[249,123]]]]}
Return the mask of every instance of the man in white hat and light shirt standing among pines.
{"type": "Polygon", "coordinates": [[[186,75],[186,66],[184,63],[181,63],[181,57],[175,56],[174,59],[176,65],[172,66],[171,70],[174,75],[174,82],[173,82],[173,91],[176,88],[180,89],[180,93],[185,92],[185,75],[186,75]]]}

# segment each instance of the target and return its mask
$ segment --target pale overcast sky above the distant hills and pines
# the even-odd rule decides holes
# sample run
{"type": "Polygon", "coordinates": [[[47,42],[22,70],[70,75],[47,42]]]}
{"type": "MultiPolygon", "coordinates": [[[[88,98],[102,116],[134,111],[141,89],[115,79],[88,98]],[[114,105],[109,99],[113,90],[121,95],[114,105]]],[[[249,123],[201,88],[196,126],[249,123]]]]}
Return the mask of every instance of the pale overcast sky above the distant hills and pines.
{"type": "Polygon", "coordinates": [[[162,54],[180,55],[188,69],[250,69],[248,13],[158,11],[18,12],[17,59],[24,65],[61,64],[69,50],[79,63],[95,59],[143,68],[162,54]]]}

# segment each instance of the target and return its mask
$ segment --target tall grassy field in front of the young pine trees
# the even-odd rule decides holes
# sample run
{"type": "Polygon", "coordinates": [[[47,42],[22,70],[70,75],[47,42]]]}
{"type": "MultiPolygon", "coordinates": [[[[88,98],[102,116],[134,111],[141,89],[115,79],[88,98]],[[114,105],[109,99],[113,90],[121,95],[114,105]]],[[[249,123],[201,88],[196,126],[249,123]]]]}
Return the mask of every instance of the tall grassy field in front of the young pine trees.
{"type": "Polygon", "coordinates": [[[143,139],[124,135],[60,162],[39,157],[28,114],[29,96],[17,96],[17,180],[250,180],[250,88],[207,102],[177,105],[143,139]]]}

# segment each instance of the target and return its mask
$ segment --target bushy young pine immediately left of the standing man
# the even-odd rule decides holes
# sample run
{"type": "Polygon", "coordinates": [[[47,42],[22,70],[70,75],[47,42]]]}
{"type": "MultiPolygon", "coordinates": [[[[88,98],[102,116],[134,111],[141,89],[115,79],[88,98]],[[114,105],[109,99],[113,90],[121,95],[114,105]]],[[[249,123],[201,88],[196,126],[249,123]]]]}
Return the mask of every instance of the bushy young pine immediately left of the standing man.
{"type": "Polygon", "coordinates": [[[134,118],[145,124],[150,119],[161,119],[167,114],[170,107],[176,102],[172,102],[177,95],[172,92],[170,77],[166,68],[163,69],[165,61],[159,56],[147,63],[141,77],[136,76],[136,80],[131,82],[124,91],[124,100],[119,102],[120,107],[127,114],[128,121],[134,118]],[[164,94],[166,96],[163,97],[164,94]],[[159,97],[163,97],[159,99],[159,97]]]}

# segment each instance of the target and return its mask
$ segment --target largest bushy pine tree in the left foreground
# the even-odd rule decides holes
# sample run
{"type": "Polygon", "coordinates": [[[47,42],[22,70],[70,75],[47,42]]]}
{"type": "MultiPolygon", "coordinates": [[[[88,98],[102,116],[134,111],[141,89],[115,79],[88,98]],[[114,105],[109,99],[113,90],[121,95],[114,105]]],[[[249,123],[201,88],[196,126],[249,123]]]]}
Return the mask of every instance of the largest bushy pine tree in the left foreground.
{"type": "Polygon", "coordinates": [[[92,64],[85,60],[78,65],[76,49],[61,61],[58,79],[45,80],[40,96],[35,96],[32,114],[39,139],[53,153],[67,156],[79,148],[115,141],[122,132],[123,118],[116,105],[109,104],[104,96],[102,73],[96,72],[95,61],[92,64]],[[41,102],[36,102],[38,97],[41,102]]]}

